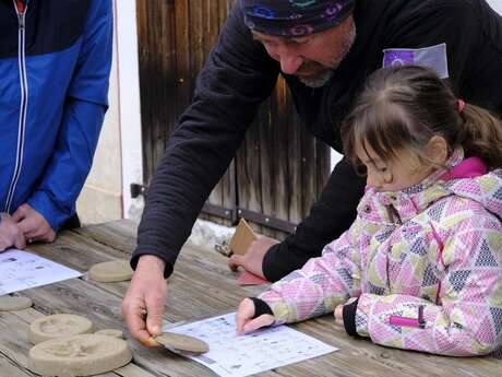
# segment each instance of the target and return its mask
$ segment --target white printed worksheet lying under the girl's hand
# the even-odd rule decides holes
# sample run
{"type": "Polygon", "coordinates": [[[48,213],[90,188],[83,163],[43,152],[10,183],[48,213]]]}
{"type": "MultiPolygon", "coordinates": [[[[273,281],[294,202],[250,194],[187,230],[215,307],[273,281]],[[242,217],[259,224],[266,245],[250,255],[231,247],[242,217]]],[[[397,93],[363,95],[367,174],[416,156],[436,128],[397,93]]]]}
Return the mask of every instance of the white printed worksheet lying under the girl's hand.
{"type": "Polygon", "coordinates": [[[287,326],[261,329],[249,334],[236,332],[236,314],[208,318],[165,331],[203,340],[210,351],[191,360],[222,377],[244,377],[338,351],[287,326]]]}

